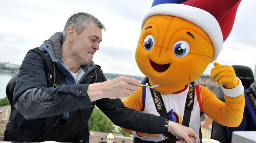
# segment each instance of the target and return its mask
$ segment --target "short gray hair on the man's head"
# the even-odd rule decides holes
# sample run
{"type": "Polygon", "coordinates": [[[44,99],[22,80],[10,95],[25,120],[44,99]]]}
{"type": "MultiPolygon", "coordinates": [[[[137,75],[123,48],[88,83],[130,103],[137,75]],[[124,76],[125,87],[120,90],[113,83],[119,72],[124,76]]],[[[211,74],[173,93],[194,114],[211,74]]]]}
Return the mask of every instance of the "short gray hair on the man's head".
{"type": "Polygon", "coordinates": [[[95,23],[96,25],[98,25],[101,30],[106,30],[105,26],[91,14],[84,12],[78,12],[73,14],[71,17],[68,18],[68,21],[66,22],[66,25],[64,27],[62,42],[66,40],[68,27],[73,27],[77,35],[79,35],[84,31],[84,29],[87,29],[89,24],[91,23],[95,23]]]}

